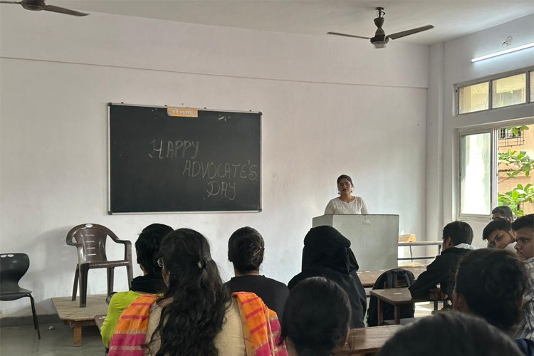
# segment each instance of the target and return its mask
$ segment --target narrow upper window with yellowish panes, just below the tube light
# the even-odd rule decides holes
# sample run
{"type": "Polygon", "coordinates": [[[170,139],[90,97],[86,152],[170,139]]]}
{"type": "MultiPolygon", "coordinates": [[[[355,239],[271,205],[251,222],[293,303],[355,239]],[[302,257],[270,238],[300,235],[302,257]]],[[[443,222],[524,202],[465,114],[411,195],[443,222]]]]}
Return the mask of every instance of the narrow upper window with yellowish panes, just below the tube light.
{"type": "Polygon", "coordinates": [[[525,104],[534,101],[534,69],[457,88],[459,115],[525,104]]]}

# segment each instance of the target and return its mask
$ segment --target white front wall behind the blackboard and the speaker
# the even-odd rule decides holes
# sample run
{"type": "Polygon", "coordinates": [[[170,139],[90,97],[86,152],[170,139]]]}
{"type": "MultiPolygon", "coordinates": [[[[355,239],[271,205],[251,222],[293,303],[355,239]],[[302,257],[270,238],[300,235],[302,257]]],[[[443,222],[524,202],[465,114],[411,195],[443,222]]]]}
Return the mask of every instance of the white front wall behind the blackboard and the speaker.
{"type": "MultiPolygon", "coordinates": [[[[2,8],[0,36],[0,246],[30,256],[21,285],[38,313],[69,295],[76,257],[65,236],[85,222],[132,241],[153,222],[197,229],[225,279],[227,239],[250,225],[266,239],[263,272],[284,282],[339,174],[373,213],[425,230],[427,46],[15,6],[2,8]],[[107,215],[108,102],[262,111],[263,211],[107,215]]],[[[116,290],[125,274],[115,271],[116,290]]],[[[103,271],[89,280],[89,293],[105,293],[103,271]]],[[[27,300],[0,310],[30,313],[27,300]]]]}

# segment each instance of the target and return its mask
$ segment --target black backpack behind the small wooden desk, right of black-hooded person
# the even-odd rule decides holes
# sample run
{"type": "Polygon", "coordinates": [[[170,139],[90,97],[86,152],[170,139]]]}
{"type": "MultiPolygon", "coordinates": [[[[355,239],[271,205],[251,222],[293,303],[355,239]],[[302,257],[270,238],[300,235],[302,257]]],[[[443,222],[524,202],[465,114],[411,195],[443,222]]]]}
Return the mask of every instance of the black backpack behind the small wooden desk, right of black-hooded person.
{"type": "MultiPolygon", "coordinates": [[[[414,273],[402,268],[393,268],[389,271],[385,271],[378,276],[377,281],[373,289],[389,289],[397,287],[409,287],[414,284],[414,273]]],[[[387,303],[384,303],[383,308],[384,320],[392,319],[394,316],[394,307],[387,303]]],[[[400,310],[401,318],[413,318],[414,317],[414,304],[402,305],[400,310]]],[[[378,325],[378,300],[377,297],[371,295],[369,298],[369,309],[367,309],[367,325],[378,325]]]]}

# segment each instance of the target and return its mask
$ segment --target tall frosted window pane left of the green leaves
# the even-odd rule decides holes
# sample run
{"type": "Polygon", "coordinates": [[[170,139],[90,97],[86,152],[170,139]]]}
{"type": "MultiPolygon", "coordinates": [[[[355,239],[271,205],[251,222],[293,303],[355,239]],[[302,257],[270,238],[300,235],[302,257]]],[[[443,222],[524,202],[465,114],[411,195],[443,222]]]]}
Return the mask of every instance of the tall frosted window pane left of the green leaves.
{"type": "Polygon", "coordinates": [[[491,211],[491,132],[461,137],[460,213],[491,211]]]}

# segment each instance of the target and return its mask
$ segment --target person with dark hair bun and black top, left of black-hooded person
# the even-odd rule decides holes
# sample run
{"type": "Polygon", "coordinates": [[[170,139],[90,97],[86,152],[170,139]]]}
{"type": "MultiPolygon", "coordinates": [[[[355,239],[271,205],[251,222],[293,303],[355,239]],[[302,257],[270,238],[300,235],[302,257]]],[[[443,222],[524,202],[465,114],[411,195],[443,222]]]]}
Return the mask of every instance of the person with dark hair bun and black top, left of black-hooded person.
{"type": "Polygon", "coordinates": [[[255,293],[281,320],[289,289],[281,282],[260,276],[264,251],[263,237],[256,229],[245,226],[234,231],[228,241],[228,259],[234,264],[236,276],[225,284],[231,293],[255,293]]]}

